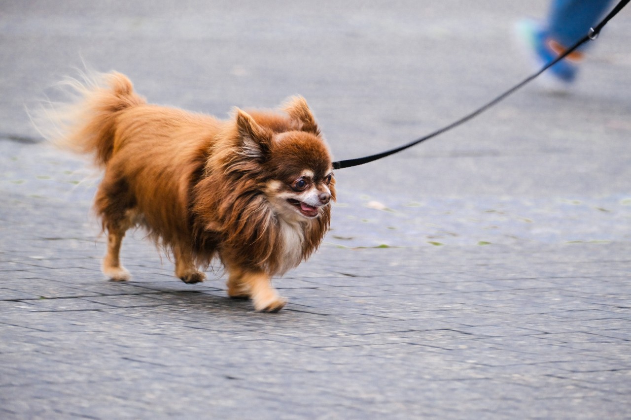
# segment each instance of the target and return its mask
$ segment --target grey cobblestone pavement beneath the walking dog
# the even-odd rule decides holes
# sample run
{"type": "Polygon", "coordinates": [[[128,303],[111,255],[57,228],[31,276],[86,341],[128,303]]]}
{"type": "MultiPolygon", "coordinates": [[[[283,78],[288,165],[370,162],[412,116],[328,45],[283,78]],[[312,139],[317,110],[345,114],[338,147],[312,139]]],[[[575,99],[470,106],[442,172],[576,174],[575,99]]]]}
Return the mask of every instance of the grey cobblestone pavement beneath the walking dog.
{"type": "Polygon", "coordinates": [[[302,93],[337,157],[380,151],[525,76],[510,27],[546,8],[431,3],[0,1],[0,418],[630,418],[626,10],[569,93],[339,171],[276,314],[140,231],[105,281],[98,174],[23,111],[83,57],[220,115],[302,93]]]}

